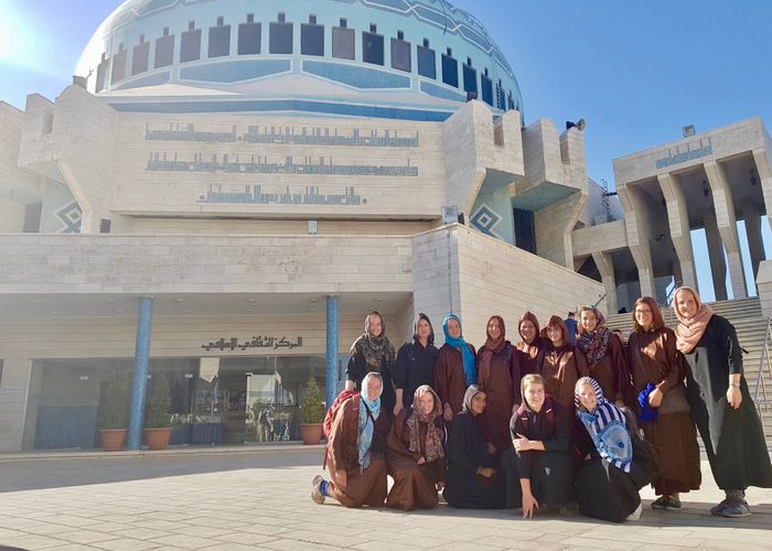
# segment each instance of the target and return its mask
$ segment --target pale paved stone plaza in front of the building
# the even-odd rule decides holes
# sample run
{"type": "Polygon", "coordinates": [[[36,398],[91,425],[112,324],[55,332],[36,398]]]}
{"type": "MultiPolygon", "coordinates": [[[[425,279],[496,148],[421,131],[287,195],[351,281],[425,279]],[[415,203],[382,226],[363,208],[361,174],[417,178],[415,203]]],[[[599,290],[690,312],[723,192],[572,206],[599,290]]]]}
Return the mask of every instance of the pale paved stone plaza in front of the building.
{"type": "Polygon", "coordinates": [[[0,548],[772,549],[772,490],[751,489],[750,518],[711,517],[719,493],[706,462],[682,512],[653,511],[646,489],[641,520],[614,526],[444,504],[407,514],[318,506],[319,447],[207,452],[1,456],[0,548]]]}

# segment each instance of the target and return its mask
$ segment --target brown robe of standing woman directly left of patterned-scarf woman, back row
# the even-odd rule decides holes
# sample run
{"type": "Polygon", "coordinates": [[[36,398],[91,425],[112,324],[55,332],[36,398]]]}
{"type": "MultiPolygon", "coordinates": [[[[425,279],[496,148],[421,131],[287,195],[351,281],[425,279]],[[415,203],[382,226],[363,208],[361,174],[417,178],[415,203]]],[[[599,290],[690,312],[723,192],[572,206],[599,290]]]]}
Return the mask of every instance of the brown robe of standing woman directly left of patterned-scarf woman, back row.
{"type": "Polygon", "coordinates": [[[585,355],[572,344],[560,348],[551,343],[539,353],[538,374],[544,377],[545,391],[568,411],[573,412],[573,387],[590,374],[585,355]]]}

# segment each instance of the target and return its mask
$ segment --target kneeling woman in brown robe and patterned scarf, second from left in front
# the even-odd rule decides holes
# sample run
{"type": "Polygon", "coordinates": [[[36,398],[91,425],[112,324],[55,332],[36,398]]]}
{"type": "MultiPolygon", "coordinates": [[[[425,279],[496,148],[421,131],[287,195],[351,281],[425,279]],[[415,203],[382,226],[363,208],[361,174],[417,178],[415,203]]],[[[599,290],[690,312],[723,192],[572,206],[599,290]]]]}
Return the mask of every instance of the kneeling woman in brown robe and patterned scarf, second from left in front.
{"type": "Polygon", "coordinates": [[[386,464],[394,478],[386,507],[409,511],[437,505],[444,483],[444,422],[440,399],[429,385],[418,387],[410,409],[394,419],[386,464]]]}

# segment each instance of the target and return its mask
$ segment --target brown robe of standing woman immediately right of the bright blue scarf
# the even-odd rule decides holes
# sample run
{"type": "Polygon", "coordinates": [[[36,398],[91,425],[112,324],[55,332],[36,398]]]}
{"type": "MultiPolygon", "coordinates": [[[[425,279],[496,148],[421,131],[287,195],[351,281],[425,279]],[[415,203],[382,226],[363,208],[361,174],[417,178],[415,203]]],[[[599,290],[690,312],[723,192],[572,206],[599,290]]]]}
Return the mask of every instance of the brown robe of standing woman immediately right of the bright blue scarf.
{"type": "Polygon", "coordinates": [[[491,356],[490,374],[483,374],[484,349],[483,346],[478,352],[478,386],[485,392],[487,402],[478,422],[485,442],[493,444],[496,454],[501,454],[512,446],[510,419],[513,406],[521,402],[521,358],[507,342],[501,352],[491,356]]]}

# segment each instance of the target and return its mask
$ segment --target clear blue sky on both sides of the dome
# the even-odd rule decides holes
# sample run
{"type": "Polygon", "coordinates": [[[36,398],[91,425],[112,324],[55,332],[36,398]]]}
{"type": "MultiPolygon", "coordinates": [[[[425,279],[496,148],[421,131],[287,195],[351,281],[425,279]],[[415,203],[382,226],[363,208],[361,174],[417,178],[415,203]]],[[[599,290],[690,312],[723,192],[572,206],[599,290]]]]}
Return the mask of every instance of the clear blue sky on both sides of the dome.
{"type": "MultiPolygon", "coordinates": [[[[0,0],[0,99],[55,98],[117,0],[0,0]]],[[[612,159],[761,117],[772,125],[772,1],[455,0],[512,64],[526,122],[587,119],[588,173],[613,186],[612,159]]],[[[772,234],[765,224],[768,258],[772,234]]],[[[704,299],[707,248],[694,235],[704,299]]]]}

